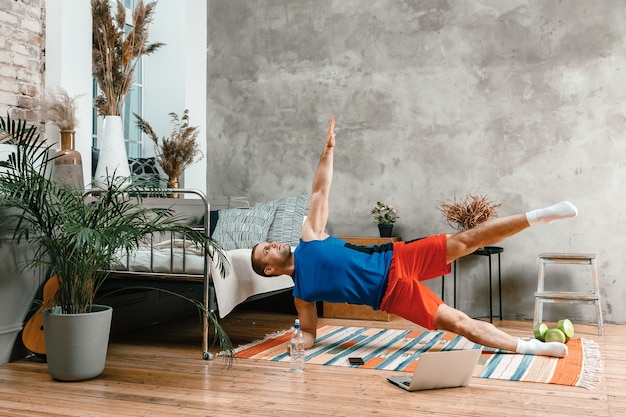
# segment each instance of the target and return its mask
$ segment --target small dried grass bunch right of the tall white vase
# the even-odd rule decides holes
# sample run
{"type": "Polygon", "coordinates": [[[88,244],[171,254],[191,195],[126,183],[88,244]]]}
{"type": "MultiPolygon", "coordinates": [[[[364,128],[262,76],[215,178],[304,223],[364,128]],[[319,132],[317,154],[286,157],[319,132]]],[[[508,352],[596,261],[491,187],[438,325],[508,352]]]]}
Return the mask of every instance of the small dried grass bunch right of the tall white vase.
{"type": "Polygon", "coordinates": [[[185,109],[182,117],[176,113],[170,113],[172,118],[172,133],[169,138],[163,137],[159,144],[159,137],[152,126],[136,113],[137,127],[148,135],[156,147],[156,160],[170,179],[178,180],[178,177],[193,162],[202,158],[200,145],[196,141],[198,134],[197,126],[189,125],[189,110],[185,109]]]}

